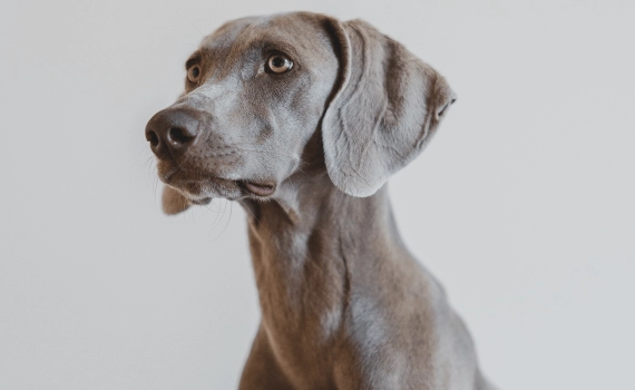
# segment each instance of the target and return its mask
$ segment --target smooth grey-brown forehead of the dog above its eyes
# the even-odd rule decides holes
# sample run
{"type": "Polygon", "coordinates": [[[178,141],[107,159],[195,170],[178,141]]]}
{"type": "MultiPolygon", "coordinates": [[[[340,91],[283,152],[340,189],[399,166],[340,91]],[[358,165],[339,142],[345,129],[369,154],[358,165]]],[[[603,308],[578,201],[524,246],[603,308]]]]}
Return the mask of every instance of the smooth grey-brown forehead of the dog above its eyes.
{"type": "Polygon", "coordinates": [[[221,26],[201,43],[199,51],[213,57],[268,48],[302,57],[328,50],[330,40],[322,26],[323,17],[310,12],[292,12],[247,17],[221,26]]]}

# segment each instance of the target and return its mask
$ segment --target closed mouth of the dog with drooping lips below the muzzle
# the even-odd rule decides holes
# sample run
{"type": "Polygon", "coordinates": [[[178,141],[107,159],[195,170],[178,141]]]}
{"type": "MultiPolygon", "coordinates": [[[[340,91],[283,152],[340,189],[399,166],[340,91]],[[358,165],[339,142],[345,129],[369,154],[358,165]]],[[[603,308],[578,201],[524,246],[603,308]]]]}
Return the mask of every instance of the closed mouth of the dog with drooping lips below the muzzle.
{"type": "Polygon", "coordinates": [[[160,181],[177,188],[195,205],[207,205],[215,197],[229,201],[245,197],[262,199],[276,191],[276,184],[272,181],[228,179],[201,170],[162,165],[157,166],[160,181]]]}

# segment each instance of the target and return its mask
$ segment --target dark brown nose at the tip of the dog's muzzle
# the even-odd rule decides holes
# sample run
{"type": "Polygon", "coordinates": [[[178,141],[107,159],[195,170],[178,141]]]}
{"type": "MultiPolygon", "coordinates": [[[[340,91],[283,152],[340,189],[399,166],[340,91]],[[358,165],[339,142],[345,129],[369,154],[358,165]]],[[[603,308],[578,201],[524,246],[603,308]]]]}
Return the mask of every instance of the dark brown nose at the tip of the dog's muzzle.
{"type": "Polygon", "coordinates": [[[148,121],[146,139],[159,159],[176,159],[195,144],[198,125],[194,113],[183,108],[166,108],[148,121]]]}

